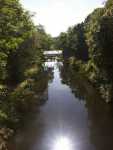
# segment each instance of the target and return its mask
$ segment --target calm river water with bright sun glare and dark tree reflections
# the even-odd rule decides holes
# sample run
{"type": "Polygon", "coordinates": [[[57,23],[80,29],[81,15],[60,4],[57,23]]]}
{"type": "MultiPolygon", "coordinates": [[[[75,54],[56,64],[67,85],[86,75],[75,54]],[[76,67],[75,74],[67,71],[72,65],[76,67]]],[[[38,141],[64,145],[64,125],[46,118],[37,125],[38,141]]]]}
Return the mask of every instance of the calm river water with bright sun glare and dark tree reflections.
{"type": "Polygon", "coordinates": [[[81,85],[78,78],[74,81],[70,78],[69,84],[63,84],[66,79],[63,79],[57,62],[49,63],[51,67],[54,69],[50,69],[53,74],[48,84],[48,100],[16,135],[12,149],[112,150],[113,117],[110,108],[101,100],[99,102],[94,89],[89,85],[86,88],[83,82],[81,85]]]}

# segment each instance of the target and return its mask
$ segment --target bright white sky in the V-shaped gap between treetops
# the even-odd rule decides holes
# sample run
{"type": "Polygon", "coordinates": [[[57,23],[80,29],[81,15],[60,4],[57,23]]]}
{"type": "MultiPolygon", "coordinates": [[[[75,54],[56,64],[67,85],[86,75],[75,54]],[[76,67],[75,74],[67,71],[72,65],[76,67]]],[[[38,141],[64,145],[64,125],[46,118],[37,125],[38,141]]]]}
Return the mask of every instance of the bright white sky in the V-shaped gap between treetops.
{"type": "Polygon", "coordinates": [[[42,24],[53,37],[84,21],[104,0],[20,0],[25,9],[35,12],[33,21],[42,24]]]}

